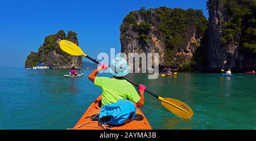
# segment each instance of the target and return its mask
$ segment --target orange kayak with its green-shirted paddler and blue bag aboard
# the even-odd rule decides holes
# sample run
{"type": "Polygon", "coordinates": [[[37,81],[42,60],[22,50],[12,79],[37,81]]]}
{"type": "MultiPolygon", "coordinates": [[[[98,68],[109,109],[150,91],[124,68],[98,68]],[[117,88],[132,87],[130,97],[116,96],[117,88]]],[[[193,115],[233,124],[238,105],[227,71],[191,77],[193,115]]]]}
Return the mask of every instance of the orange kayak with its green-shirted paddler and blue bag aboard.
{"type": "Polygon", "coordinates": [[[93,70],[88,78],[102,89],[102,94],[89,106],[72,129],[152,129],[139,109],[144,105],[146,86],[139,85],[138,94],[130,82],[122,79],[122,76],[128,73],[129,65],[123,57],[112,60],[109,68],[108,65],[101,64],[93,70]],[[106,69],[113,78],[96,76],[100,70],[106,69]]]}

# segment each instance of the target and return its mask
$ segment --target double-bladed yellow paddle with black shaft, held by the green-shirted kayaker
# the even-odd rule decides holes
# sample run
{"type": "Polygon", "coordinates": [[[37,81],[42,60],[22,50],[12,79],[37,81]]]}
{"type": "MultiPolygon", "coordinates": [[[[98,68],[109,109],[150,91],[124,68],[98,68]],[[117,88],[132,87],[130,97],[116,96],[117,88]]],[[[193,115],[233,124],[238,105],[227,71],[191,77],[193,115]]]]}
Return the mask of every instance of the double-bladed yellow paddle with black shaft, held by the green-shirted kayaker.
{"type": "MultiPolygon", "coordinates": [[[[76,44],[68,41],[68,40],[61,40],[60,42],[60,48],[64,51],[69,53],[70,55],[75,55],[75,56],[84,56],[90,60],[92,60],[94,63],[99,64],[99,62],[96,59],[93,59],[92,57],[89,57],[88,55],[85,55],[85,53],[82,51],[82,49],[77,46],[76,44]]],[[[135,83],[134,81],[130,80],[129,78],[123,77],[125,80],[129,81],[131,84],[134,84],[136,86],[139,86],[139,84],[135,83]]],[[[151,94],[152,96],[158,98],[162,105],[166,107],[168,110],[170,110],[172,113],[176,114],[177,116],[181,118],[191,118],[193,116],[193,111],[192,109],[185,104],[182,101],[179,101],[174,98],[163,98],[160,97],[150,90],[146,89],[145,90],[147,93],[151,94]]]]}

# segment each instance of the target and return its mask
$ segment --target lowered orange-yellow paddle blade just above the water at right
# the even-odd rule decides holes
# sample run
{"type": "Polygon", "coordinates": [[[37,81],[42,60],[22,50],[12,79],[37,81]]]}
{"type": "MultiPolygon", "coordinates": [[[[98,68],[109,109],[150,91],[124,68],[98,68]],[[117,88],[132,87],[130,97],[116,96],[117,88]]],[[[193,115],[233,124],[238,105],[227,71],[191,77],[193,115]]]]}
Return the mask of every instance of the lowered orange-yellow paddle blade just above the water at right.
{"type": "Polygon", "coordinates": [[[161,102],[161,104],[166,107],[168,110],[170,110],[172,113],[176,114],[177,116],[181,118],[191,118],[193,116],[193,111],[192,109],[185,104],[182,101],[179,101],[174,98],[158,98],[161,102]]]}

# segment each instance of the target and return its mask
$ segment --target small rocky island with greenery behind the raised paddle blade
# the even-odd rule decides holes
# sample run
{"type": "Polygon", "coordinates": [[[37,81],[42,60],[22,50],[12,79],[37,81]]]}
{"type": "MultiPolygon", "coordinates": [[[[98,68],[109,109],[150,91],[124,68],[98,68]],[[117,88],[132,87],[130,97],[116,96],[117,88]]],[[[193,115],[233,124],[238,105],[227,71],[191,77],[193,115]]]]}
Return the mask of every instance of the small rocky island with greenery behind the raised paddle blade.
{"type": "Polygon", "coordinates": [[[45,66],[52,69],[70,69],[73,66],[77,69],[81,69],[82,57],[68,55],[68,53],[62,51],[59,47],[59,42],[62,39],[69,40],[78,45],[77,34],[75,32],[68,31],[68,35],[66,36],[65,32],[60,30],[57,34],[46,36],[38,52],[31,52],[30,55],[27,56],[25,67],[34,67],[36,63],[44,62],[45,66]]]}

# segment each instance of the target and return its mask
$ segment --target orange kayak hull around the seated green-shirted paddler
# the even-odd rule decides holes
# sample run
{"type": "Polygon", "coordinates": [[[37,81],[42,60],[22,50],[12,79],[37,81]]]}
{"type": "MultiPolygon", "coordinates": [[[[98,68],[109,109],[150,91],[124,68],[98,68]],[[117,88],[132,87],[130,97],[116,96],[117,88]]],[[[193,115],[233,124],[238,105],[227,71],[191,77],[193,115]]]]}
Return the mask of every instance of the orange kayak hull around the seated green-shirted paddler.
{"type": "Polygon", "coordinates": [[[99,96],[93,103],[88,107],[85,111],[84,115],[80,118],[80,120],[76,123],[76,125],[72,128],[74,130],[151,130],[152,127],[150,123],[147,121],[146,117],[142,113],[141,109],[137,109],[137,113],[141,115],[141,118],[137,120],[133,120],[131,122],[125,123],[123,125],[102,125],[98,120],[93,120],[97,114],[100,113],[101,107],[101,96],[99,96]]]}

